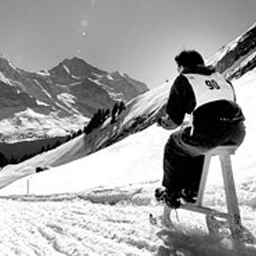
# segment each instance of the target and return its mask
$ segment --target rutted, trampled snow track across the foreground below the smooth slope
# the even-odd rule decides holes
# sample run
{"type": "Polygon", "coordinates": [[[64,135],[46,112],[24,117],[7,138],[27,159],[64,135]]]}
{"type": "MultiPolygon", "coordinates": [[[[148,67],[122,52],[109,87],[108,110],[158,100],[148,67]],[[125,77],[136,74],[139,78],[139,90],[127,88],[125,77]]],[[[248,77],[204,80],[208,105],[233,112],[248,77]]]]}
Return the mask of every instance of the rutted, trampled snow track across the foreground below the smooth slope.
{"type": "MultiPolygon", "coordinates": [[[[152,200],[155,183],[99,188],[62,195],[14,195],[0,199],[0,252],[12,255],[253,256],[256,246],[209,236],[203,214],[172,213],[177,230],[149,224],[160,216],[152,200]],[[160,239],[161,237],[161,239],[160,239]],[[166,243],[166,244],[165,244],[166,243]]],[[[243,224],[256,235],[253,208],[242,207],[243,224]]]]}

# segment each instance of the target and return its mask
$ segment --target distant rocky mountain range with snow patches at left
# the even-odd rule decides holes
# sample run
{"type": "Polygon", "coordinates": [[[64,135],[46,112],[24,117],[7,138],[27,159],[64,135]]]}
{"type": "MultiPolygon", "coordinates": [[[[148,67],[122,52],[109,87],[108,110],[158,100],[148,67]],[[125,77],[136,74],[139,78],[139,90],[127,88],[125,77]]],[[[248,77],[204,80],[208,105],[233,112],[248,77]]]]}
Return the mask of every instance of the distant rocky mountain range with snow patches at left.
{"type": "Polygon", "coordinates": [[[78,131],[99,108],[128,102],[148,87],[77,57],[30,73],[1,56],[0,89],[0,140],[17,142],[78,131]]]}

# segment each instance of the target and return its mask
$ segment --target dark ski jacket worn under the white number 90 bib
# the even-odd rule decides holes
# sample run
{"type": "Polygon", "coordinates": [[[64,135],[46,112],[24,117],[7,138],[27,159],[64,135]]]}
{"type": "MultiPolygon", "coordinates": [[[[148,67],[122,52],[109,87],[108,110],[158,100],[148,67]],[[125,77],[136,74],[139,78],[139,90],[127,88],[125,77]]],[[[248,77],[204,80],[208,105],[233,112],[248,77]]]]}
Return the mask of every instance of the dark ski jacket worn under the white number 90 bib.
{"type": "MultiPolygon", "coordinates": [[[[212,127],[218,128],[219,125],[232,125],[233,123],[235,124],[245,119],[241,108],[236,102],[227,100],[208,102],[195,110],[195,93],[191,84],[189,84],[189,79],[183,74],[195,73],[207,76],[215,72],[212,67],[200,66],[195,69],[185,68],[183,72],[177,76],[172,84],[166,104],[166,113],[175,124],[181,125],[185,114],[193,113],[193,126],[195,131],[204,133],[204,131],[211,130],[212,127]]],[[[233,88],[231,83],[230,86],[233,88]]]]}

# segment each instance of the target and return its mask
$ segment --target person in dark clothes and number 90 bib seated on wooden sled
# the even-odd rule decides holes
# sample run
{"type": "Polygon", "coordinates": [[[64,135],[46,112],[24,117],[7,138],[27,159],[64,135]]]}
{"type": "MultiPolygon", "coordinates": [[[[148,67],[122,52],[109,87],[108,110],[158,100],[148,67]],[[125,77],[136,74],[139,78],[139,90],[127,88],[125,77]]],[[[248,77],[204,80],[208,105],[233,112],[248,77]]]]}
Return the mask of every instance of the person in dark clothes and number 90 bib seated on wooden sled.
{"type": "Polygon", "coordinates": [[[167,130],[181,126],[166,143],[163,187],[155,189],[156,200],[172,208],[180,207],[181,199],[195,203],[203,153],[220,145],[239,146],[245,137],[245,118],[232,84],[206,67],[195,50],[182,51],[175,61],[179,75],[158,124],[167,130]],[[191,117],[189,125],[182,125],[186,114],[191,117]]]}

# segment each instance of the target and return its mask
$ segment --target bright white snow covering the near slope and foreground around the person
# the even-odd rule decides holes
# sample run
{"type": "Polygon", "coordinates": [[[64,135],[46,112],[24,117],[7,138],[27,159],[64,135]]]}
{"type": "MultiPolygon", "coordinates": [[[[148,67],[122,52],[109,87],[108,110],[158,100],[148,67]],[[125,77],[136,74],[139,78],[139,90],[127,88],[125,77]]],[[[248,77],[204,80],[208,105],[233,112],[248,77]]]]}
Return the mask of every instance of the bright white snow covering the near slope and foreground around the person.
{"type": "MultiPolygon", "coordinates": [[[[255,80],[253,70],[233,81],[237,101],[247,118],[247,137],[232,156],[241,221],[253,236],[255,80]]],[[[159,109],[169,85],[134,100],[126,122],[159,109]]],[[[160,185],[163,148],[169,136],[170,131],[151,125],[95,154],[22,177],[1,189],[1,255],[256,255],[255,244],[209,235],[205,218],[199,213],[178,210],[177,218],[173,212],[177,228],[173,231],[159,230],[148,223],[148,212],[158,216],[163,208],[154,201],[154,188],[160,185]],[[162,239],[156,236],[157,231],[162,239]]],[[[6,172],[3,169],[3,174],[6,172]]],[[[221,178],[214,157],[204,204],[224,210],[221,178]]]]}

